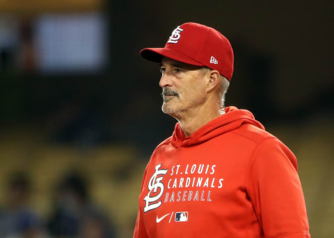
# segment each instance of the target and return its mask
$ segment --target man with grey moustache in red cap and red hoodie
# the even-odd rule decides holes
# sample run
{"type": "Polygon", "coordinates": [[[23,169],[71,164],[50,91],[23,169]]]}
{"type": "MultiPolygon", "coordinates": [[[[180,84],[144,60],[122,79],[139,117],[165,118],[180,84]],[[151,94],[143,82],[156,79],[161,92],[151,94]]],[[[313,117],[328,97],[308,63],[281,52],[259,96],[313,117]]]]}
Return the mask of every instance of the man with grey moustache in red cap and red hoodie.
{"type": "Polygon", "coordinates": [[[161,63],[162,110],[178,123],[145,169],[134,237],[310,237],[296,158],[253,114],[224,107],[230,42],[186,23],[141,56],[161,63]]]}

